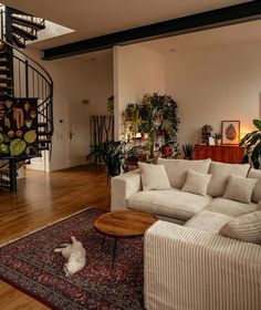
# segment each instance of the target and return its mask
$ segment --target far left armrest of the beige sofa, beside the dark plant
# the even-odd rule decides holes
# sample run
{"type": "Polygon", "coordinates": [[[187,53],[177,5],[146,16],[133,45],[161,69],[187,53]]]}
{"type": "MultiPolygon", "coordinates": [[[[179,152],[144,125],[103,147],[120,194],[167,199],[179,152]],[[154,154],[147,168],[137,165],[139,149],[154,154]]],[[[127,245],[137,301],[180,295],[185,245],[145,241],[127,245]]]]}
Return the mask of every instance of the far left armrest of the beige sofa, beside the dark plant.
{"type": "Polygon", "coordinates": [[[111,210],[127,208],[128,196],[142,189],[139,169],[113,177],[111,186],[111,210]]]}

